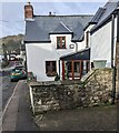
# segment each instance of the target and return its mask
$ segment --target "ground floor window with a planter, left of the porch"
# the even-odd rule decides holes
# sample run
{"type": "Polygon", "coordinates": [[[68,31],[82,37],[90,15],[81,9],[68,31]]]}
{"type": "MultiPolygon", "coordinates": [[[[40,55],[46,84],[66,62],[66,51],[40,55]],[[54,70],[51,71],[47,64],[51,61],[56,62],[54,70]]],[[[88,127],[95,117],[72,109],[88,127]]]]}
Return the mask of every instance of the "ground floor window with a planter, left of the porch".
{"type": "Polygon", "coordinates": [[[54,76],[57,73],[57,61],[46,61],[47,76],[54,76]]]}

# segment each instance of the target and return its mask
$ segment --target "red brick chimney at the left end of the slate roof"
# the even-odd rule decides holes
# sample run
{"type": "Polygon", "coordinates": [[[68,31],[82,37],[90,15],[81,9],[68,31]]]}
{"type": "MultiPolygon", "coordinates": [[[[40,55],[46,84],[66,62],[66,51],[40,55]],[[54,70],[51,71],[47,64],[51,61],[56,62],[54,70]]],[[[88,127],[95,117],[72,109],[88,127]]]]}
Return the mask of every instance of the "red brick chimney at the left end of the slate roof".
{"type": "Polygon", "coordinates": [[[24,19],[32,19],[33,18],[33,7],[28,2],[24,6],[24,19]]]}

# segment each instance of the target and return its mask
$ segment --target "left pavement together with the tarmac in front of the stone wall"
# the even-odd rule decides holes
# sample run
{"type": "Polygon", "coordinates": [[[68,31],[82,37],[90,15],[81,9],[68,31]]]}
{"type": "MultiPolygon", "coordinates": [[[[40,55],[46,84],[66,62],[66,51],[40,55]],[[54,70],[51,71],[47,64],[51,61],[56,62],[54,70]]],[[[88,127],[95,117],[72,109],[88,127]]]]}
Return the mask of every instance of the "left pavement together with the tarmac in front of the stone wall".
{"type": "Polygon", "coordinates": [[[26,81],[19,81],[2,116],[2,131],[117,131],[117,106],[97,106],[47,112],[34,119],[30,111],[26,81]]]}

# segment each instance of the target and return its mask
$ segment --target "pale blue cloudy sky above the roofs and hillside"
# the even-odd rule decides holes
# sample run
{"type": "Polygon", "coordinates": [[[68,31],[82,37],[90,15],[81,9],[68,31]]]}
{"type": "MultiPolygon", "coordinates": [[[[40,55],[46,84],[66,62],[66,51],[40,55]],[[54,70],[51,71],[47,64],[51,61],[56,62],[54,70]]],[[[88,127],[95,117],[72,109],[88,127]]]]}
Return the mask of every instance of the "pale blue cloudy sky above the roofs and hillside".
{"type": "MultiPolygon", "coordinates": [[[[88,1],[83,0],[69,0],[65,2],[57,2],[52,0],[50,2],[43,2],[41,0],[30,0],[33,6],[34,14],[42,16],[49,14],[49,12],[54,12],[56,16],[60,14],[95,14],[99,7],[103,7],[108,0],[100,1],[88,1]],[[34,1],[34,2],[33,2],[34,1]],[[39,2],[40,1],[40,2],[39,2]]],[[[19,33],[24,33],[24,12],[23,7],[27,3],[27,0],[23,2],[14,2],[10,0],[0,2],[0,38],[7,35],[16,35],[19,33]]]]}

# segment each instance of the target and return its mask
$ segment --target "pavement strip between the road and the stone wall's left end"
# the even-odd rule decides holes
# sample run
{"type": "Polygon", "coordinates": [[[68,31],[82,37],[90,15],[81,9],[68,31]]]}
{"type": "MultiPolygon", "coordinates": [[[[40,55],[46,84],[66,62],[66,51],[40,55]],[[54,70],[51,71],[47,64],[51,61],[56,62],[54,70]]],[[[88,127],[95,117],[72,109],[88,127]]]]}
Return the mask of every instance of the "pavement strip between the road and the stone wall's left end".
{"type": "Polygon", "coordinates": [[[40,131],[30,111],[28,93],[27,83],[19,81],[3,110],[2,131],[40,131]]]}

